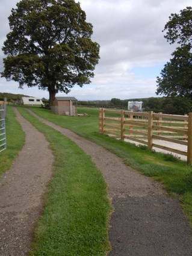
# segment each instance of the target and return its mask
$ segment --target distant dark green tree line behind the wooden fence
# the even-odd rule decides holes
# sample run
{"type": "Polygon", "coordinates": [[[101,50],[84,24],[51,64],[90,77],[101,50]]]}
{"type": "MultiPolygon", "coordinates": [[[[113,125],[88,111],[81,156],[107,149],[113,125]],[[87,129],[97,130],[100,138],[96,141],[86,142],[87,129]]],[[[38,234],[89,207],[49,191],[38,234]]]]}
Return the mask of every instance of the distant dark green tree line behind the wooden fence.
{"type": "Polygon", "coordinates": [[[144,111],[163,112],[167,114],[188,114],[192,112],[192,100],[190,98],[162,97],[162,98],[138,98],[138,99],[117,99],[111,101],[78,101],[79,105],[101,105],[103,107],[127,108],[128,101],[143,101],[144,111]]]}

